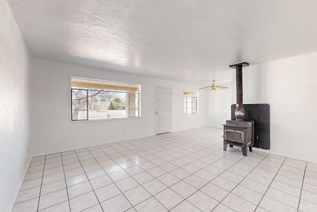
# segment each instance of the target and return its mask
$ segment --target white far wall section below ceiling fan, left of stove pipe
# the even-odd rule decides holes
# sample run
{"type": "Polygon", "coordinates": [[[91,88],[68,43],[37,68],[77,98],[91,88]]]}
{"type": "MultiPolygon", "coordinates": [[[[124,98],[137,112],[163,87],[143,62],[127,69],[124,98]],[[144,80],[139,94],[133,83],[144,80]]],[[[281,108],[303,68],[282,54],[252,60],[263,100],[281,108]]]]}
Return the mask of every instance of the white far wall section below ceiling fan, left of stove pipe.
{"type": "Polygon", "coordinates": [[[221,84],[229,89],[211,92],[204,91],[206,95],[206,126],[223,128],[226,120],[231,119],[231,84],[221,84]]]}

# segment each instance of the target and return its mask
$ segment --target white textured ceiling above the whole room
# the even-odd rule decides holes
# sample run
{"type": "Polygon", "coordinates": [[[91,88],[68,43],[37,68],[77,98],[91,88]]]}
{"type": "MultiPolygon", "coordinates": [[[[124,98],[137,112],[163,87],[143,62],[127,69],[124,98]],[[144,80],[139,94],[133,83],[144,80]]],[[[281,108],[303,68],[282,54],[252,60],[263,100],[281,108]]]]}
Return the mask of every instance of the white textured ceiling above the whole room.
{"type": "Polygon", "coordinates": [[[33,57],[208,85],[317,52],[317,0],[7,0],[33,57]]]}

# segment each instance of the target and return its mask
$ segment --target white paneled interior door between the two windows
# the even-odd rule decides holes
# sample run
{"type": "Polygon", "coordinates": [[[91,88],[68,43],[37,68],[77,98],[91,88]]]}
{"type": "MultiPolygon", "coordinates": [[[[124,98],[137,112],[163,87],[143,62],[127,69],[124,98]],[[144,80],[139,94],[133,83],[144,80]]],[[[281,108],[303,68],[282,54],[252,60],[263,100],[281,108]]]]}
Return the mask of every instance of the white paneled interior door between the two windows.
{"type": "Polygon", "coordinates": [[[170,132],[170,88],[156,87],[156,134],[169,133],[170,132]]]}

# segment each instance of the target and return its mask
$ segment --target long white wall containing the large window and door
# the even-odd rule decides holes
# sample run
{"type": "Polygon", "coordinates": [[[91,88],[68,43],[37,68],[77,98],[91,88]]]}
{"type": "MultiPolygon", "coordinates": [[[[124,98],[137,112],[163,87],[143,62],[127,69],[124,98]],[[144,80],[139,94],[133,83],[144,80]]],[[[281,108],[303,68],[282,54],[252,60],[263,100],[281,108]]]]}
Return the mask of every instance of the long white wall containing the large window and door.
{"type": "Polygon", "coordinates": [[[30,80],[30,139],[34,156],[154,135],[156,85],[171,87],[172,132],[205,126],[204,95],[200,95],[199,114],[183,115],[183,89],[198,90],[195,85],[42,59],[33,59],[30,80]],[[142,117],[70,122],[70,76],[141,84],[142,117]]]}

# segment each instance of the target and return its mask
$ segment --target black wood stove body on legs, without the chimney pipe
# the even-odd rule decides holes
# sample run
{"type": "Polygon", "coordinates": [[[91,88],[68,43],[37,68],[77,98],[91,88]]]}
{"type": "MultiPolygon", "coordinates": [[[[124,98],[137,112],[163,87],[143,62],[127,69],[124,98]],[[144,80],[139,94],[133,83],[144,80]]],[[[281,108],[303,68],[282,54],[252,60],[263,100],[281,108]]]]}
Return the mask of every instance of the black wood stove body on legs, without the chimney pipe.
{"type": "Polygon", "coordinates": [[[248,155],[248,147],[252,152],[254,144],[254,121],[227,120],[223,125],[223,150],[227,150],[227,145],[232,147],[240,146],[242,154],[248,155]]]}

